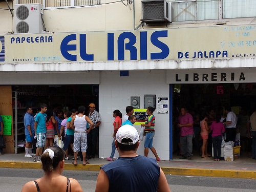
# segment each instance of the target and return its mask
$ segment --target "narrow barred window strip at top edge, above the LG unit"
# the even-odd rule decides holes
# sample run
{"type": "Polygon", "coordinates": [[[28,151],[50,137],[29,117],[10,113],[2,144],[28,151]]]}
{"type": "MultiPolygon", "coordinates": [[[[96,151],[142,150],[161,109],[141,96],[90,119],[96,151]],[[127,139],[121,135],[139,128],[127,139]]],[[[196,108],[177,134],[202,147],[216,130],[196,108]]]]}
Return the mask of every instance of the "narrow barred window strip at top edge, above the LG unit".
{"type": "Polygon", "coordinates": [[[39,3],[45,9],[99,5],[101,0],[18,0],[18,4],[39,3]]]}

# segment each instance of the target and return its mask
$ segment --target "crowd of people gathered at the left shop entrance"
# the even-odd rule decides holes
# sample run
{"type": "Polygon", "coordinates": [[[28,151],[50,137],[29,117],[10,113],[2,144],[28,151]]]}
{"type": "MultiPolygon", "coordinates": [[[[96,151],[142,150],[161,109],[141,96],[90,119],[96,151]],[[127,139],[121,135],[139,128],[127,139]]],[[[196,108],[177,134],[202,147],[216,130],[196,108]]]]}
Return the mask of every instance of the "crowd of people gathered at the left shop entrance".
{"type": "Polygon", "coordinates": [[[35,156],[33,161],[41,162],[44,149],[58,145],[54,144],[54,139],[58,138],[64,143],[65,160],[69,160],[68,149],[71,147],[74,153],[74,165],[77,165],[78,152],[83,165],[89,164],[87,160],[94,158],[96,154],[101,120],[99,113],[95,110],[95,104],[91,103],[88,107],[87,115],[85,115],[84,106],[62,113],[61,110],[49,109],[45,103],[42,103],[34,116],[32,108],[28,107],[24,116],[25,157],[35,156]],[[33,140],[36,140],[35,154],[32,153],[33,140]]]}

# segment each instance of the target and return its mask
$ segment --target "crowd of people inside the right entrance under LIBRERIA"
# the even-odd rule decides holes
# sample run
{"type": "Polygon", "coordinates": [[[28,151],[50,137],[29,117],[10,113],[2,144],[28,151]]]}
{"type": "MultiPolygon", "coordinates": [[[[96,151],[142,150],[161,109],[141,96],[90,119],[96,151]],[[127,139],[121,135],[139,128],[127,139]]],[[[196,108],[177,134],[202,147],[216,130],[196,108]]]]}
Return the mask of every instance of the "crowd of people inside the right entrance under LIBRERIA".
{"type": "Polygon", "coordinates": [[[236,115],[228,105],[220,110],[210,108],[201,113],[197,110],[188,112],[186,106],[182,106],[178,111],[177,122],[174,121],[174,126],[177,127],[176,133],[179,135],[176,141],[179,148],[177,155],[181,156],[180,159],[190,160],[194,150],[202,158],[210,158],[213,154],[213,160],[220,161],[222,141],[236,142],[237,128],[239,128],[241,142],[247,146],[248,157],[255,159],[256,138],[253,139],[252,136],[254,130],[256,131],[254,114],[256,111],[248,115],[241,110],[240,114],[236,115]]]}

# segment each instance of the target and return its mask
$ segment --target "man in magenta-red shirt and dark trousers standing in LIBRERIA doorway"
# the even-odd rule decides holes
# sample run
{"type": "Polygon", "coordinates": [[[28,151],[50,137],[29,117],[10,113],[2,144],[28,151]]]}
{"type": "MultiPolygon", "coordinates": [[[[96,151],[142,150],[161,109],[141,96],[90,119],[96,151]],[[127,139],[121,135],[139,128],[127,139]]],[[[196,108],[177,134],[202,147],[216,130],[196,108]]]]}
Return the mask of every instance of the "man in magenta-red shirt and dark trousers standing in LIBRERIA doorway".
{"type": "Polygon", "coordinates": [[[180,145],[181,145],[181,155],[180,159],[191,160],[193,151],[193,117],[191,114],[187,113],[187,108],[184,106],[180,109],[180,116],[178,117],[178,127],[180,127],[180,145]]]}

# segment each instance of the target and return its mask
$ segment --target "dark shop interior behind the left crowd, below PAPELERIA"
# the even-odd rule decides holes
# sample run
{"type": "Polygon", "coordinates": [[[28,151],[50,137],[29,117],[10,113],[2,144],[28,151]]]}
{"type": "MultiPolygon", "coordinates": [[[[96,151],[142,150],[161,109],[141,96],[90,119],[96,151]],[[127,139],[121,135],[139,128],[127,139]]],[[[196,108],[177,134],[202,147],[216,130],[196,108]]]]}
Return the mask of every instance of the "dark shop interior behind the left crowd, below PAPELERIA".
{"type": "Polygon", "coordinates": [[[80,105],[86,106],[86,110],[88,110],[88,105],[90,103],[95,103],[96,110],[98,111],[98,85],[70,84],[12,86],[12,101],[14,141],[16,135],[15,111],[17,110],[17,152],[19,153],[25,151],[25,128],[23,118],[28,106],[32,107],[33,116],[36,114],[36,109],[39,108],[40,103],[46,103],[48,105],[48,110],[58,109],[61,111],[77,109],[80,105]],[[15,103],[15,100],[17,103],[15,103]],[[16,104],[17,106],[15,107],[16,104]]]}

